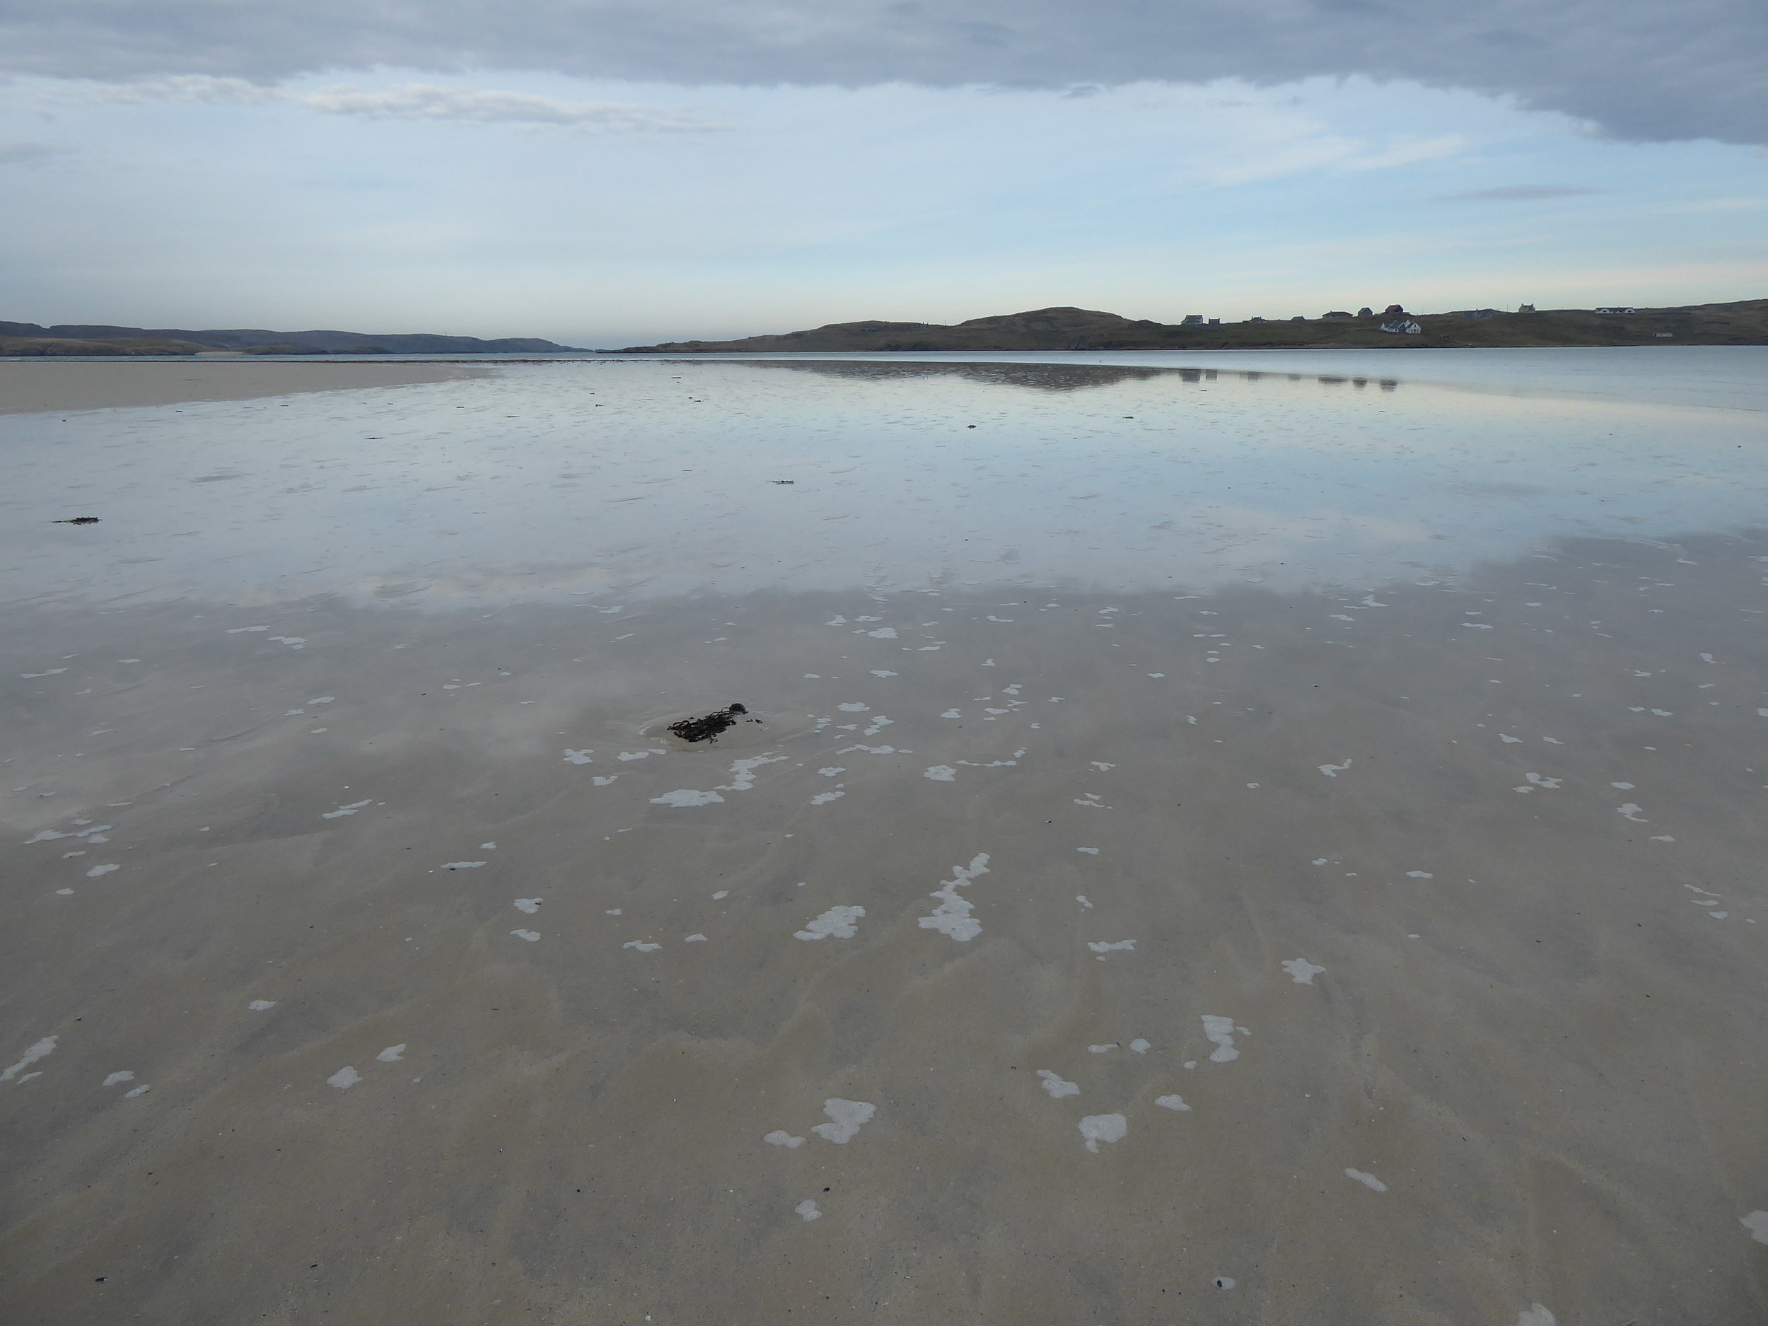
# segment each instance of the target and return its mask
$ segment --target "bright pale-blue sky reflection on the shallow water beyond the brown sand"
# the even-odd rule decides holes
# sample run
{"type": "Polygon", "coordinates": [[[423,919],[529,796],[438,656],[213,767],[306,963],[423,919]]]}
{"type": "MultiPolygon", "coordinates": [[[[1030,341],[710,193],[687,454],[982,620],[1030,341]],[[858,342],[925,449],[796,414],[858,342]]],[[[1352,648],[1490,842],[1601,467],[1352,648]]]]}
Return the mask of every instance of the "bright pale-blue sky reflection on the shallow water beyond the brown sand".
{"type": "Polygon", "coordinates": [[[1356,371],[578,359],[4,417],[0,573],[37,603],[438,608],[1376,585],[1565,536],[1731,529],[1768,495],[1763,440],[1745,408],[1356,371]],[[78,514],[101,523],[50,523],[78,514]]]}

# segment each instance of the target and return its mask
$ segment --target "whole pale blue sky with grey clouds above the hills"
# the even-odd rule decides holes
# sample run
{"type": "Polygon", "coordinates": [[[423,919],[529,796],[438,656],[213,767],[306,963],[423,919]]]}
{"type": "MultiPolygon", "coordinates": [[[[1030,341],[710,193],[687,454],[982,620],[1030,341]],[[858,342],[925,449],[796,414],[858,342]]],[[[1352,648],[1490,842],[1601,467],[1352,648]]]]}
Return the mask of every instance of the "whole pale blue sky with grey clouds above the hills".
{"type": "Polygon", "coordinates": [[[42,324],[1756,299],[1768,5],[5,5],[0,216],[0,318],[42,324]]]}

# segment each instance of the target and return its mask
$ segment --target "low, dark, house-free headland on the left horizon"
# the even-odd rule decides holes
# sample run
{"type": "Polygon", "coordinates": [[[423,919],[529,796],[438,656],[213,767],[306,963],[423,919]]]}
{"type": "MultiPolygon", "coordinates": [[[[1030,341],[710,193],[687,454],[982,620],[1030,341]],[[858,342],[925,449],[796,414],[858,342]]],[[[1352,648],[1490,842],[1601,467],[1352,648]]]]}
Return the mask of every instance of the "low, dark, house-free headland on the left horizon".
{"type": "Polygon", "coordinates": [[[0,322],[0,355],[194,355],[232,350],[249,355],[449,355],[449,354],[560,354],[536,336],[430,336],[424,332],[272,332],[258,329],[182,331],[175,327],[108,327],[35,322],[0,322]]]}

